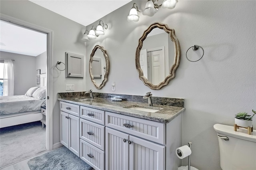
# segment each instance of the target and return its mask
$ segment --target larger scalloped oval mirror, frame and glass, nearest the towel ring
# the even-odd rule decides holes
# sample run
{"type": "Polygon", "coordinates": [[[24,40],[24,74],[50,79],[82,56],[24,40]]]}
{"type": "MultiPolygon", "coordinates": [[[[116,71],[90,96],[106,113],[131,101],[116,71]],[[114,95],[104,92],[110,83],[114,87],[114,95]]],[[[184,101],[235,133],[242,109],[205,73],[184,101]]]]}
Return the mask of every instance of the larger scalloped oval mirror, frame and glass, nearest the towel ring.
{"type": "Polygon", "coordinates": [[[151,24],[136,49],[135,64],[139,78],[150,89],[159,90],[175,77],[180,63],[180,43],[166,24],[151,24]]]}

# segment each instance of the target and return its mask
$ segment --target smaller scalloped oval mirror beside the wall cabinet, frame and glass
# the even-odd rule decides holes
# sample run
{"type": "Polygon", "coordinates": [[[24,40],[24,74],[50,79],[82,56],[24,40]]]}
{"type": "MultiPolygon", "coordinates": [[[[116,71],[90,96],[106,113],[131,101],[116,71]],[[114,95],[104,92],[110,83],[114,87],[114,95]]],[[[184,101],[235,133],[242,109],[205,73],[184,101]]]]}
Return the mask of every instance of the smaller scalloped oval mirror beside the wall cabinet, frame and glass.
{"type": "Polygon", "coordinates": [[[106,49],[100,45],[96,45],[90,55],[89,73],[96,89],[102,89],[108,81],[109,59],[106,49]]]}

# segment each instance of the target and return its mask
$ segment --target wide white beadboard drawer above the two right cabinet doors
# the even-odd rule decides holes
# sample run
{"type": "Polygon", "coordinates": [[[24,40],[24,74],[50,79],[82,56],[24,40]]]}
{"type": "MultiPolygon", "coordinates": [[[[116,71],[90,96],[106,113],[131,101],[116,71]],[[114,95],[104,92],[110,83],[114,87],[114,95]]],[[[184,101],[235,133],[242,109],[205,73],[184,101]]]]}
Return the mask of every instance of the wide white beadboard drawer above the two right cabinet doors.
{"type": "Polygon", "coordinates": [[[106,112],[105,117],[105,125],[107,127],[115,128],[156,143],[165,144],[165,123],[111,112],[106,112]]]}

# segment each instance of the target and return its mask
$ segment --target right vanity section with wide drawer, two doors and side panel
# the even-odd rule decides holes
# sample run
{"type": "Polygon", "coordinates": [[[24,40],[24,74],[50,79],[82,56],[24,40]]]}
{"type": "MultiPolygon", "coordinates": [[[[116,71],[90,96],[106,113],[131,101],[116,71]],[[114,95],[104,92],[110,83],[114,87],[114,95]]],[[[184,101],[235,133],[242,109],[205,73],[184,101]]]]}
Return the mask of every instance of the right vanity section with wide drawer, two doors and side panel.
{"type": "Polygon", "coordinates": [[[181,165],[175,153],[181,146],[181,116],[166,124],[105,112],[105,169],[177,169],[181,165]]]}

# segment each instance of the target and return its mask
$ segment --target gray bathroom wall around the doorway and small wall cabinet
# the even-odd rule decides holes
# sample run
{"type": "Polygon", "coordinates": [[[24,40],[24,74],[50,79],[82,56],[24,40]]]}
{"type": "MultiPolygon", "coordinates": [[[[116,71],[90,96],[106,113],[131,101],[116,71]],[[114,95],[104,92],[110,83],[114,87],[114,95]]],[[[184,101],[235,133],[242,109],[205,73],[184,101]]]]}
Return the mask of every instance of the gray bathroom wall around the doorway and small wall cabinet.
{"type": "MultiPolygon", "coordinates": [[[[60,142],[60,109],[57,93],[66,91],[66,84],[74,84],[75,91],[85,91],[86,79],[65,78],[65,71],[56,69],[56,62],[65,63],[65,52],[85,56],[85,44],[81,37],[85,27],[60,16],[50,10],[42,8],[28,0],[1,0],[0,11],[2,14],[42,26],[53,31],[53,59],[49,65],[53,71],[53,144],[60,142]],[[63,36],[65,35],[65,36],[63,36]]],[[[84,60],[85,61],[85,60],[84,60]]],[[[84,75],[87,64],[84,63],[84,75]]],[[[35,70],[35,69],[34,69],[35,70]]]]}

